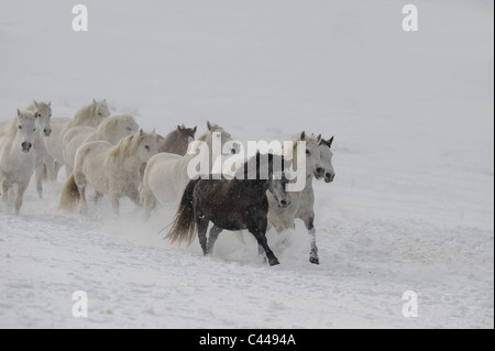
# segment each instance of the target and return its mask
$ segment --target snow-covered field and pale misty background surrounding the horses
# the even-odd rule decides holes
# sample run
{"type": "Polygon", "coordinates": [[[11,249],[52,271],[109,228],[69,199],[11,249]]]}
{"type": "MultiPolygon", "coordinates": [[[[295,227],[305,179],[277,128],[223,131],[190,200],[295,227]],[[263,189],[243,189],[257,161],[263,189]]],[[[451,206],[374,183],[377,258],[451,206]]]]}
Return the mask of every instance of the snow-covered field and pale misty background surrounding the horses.
{"type": "Polygon", "coordinates": [[[19,217],[0,205],[1,328],[494,327],[492,1],[415,0],[415,33],[396,0],[81,2],[85,33],[77,2],[1,0],[0,120],[105,98],[162,134],[209,119],[243,143],[336,135],[336,182],[315,184],[321,264],[301,222],[267,234],[268,267],[228,232],[212,257],[170,245],[168,209],[58,212],[62,169],[19,217]]]}

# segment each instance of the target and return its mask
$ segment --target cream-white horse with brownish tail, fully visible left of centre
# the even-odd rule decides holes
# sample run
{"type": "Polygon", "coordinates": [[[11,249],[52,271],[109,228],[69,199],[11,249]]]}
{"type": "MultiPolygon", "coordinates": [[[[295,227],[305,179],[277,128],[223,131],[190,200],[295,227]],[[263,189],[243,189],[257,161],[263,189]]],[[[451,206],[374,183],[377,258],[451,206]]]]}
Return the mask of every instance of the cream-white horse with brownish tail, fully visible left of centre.
{"type": "Polygon", "coordinates": [[[88,211],[86,187],[91,185],[100,195],[108,195],[114,217],[119,216],[119,199],[140,200],[140,166],[157,153],[156,134],[143,130],[127,136],[117,145],[94,141],[76,153],[74,172],[65,183],[58,209],[72,210],[79,202],[81,215],[88,211]]]}

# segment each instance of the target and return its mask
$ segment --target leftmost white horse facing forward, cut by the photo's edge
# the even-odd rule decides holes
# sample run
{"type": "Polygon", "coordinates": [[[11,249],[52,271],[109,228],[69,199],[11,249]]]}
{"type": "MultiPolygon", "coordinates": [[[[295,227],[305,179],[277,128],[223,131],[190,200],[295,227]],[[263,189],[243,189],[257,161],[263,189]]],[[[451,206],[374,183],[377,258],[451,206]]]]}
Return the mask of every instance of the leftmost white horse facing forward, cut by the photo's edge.
{"type": "Polygon", "coordinates": [[[18,116],[9,122],[0,138],[0,182],[2,200],[7,202],[9,189],[18,185],[14,211],[19,215],[24,191],[33,176],[36,155],[32,151],[36,118],[33,112],[18,110],[18,116]]]}

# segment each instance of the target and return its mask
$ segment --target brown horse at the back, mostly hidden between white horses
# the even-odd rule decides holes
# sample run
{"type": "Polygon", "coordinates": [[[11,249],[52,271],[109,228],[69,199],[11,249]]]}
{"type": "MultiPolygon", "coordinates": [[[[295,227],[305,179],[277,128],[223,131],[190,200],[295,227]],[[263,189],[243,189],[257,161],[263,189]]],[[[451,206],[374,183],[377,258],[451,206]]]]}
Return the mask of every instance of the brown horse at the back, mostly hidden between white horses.
{"type": "MultiPolygon", "coordinates": [[[[165,138],[156,134],[156,142],[158,143],[158,153],[167,152],[169,154],[176,154],[184,156],[187,153],[187,147],[189,143],[195,141],[195,134],[198,127],[186,128],[183,125],[177,125],[177,129],[169,132],[165,138]]],[[[146,164],[141,165],[141,178],[144,177],[144,169],[146,164]]]]}

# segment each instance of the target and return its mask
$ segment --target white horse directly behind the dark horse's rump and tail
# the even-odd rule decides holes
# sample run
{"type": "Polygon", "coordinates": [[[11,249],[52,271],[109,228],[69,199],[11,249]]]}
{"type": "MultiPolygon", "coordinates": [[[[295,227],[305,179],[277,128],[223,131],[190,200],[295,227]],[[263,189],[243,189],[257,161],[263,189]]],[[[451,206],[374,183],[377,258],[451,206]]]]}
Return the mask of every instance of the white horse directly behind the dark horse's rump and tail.
{"type": "Polygon", "coordinates": [[[228,149],[229,153],[232,154],[241,150],[242,145],[233,141],[231,134],[223,128],[218,124],[211,124],[210,122],[207,122],[207,131],[190,144],[189,150],[193,153],[188,153],[185,156],[160,153],[150,160],[144,171],[142,184],[146,218],[150,217],[157,201],[161,205],[174,207],[180,204],[184,190],[190,182],[187,168],[198,157],[196,155],[196,145],[198,143],[204,143],[202,145],[208,146],[208,153],[202,152],[199,156],[207,157],[200,160],[202,164],[208,165],[207,172],[211,172],[215,161],[221,156],[223,149],[228,149]]]}

